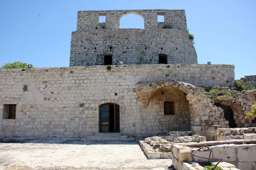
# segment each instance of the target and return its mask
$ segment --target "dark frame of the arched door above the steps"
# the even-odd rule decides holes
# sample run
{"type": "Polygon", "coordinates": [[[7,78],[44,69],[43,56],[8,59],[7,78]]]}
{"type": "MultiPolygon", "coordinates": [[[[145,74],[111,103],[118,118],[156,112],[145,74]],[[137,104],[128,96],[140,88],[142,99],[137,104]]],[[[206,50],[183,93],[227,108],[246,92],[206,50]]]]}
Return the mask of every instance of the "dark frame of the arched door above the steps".
{"type": "Polygon", "coordinates": [[[114,125],[108,121],[108,132],[110,132],[110,126],[114,126],[114,133],[120,132],[120,111],[119,105],[116,103],[104,103],[99,106],[99,132],[102,132],[102,107],[108,105],[108,120],[110,119],[110,105],[113,105],[114,111],[114,125]]]}

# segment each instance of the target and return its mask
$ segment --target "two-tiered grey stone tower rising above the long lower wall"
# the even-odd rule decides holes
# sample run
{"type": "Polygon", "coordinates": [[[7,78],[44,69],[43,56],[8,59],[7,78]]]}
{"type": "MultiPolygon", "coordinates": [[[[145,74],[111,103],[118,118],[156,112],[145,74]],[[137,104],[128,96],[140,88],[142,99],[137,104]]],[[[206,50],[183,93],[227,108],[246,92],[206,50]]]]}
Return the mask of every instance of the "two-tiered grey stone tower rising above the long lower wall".
{"type": "Polygon", "coordinates": [[[186,30],[184,10],[78,11],[70,63],[197,64],[197,54],[186,30]],[[119,21],[127,14],[143,17],[144,29],[120,29],[119,21]],[[164,22],[157,22],[158,15],[164,16],[164,22]],[[106,22],[99,23],[100,16],[105,16],[106,22]]]}

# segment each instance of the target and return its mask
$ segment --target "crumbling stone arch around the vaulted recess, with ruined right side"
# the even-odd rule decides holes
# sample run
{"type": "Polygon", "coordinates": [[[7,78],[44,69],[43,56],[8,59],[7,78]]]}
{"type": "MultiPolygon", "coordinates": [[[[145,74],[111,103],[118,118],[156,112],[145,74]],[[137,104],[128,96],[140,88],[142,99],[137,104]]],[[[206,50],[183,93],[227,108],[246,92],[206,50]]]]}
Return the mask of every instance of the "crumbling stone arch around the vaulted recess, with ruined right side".
{"type": "MultiPolygon", "coordinates": [[[[162,80],[157,82],[144,82],[139,84],[137,88],[138,100],[142,102],[143,109],[151,107],[151,101],[154,101],[162,92],[169,93],[169,95],[173,95],[174,98],[183,95],[183,105],[184,103],[186,103],[186,105],[180,105],[180,107],[185,108],[185,110],[189,108],[186,114],[189,115],[190,122],[187,124],[189,125],[189,130],[194,130],[196,134],[207,136],[207,139],[211,137],[209,130],[212,126],[218,125],[223,128],[228,126],[228,122],[224,118],[224,113],[221,108],[212,107],[210,99],[206,95],[201,94],[200,88],[194,85],[176,80],[162,80]]],[[[161,102],[162,101],[159,101],[158,104],[160,109],[163,107],[163,103],[161,102]]],[[[185,112],[183,111],[182,113],[184,114],[185,112]]],[[[159,116],[158,118],[163,119],[159,116]]],[[[174,121],[178,122],[180,119],[182,119],[182,117],[175,117],[174,121]]],[[[174,130],[177,130],[177,128],[174,130]]],[[[169,131],[172,131],[172,129],[169,129],[169,131]]]]}

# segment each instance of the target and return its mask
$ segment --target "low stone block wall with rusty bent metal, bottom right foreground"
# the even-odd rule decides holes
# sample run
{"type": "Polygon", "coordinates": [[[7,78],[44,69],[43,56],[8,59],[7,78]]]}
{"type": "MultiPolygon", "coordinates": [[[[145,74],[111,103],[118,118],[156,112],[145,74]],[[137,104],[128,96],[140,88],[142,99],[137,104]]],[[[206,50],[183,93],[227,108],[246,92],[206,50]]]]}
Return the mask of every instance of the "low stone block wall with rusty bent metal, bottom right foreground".
{"type": "MultiPolygon", "coordinates": [[[[204,142],[207,144],[207,142],[204,142]]],[[[209,145],[209,144],[208,144],[209,145]]],[[[211,146],[212,154],[210,158],[219,158],[222,161],[233,164],[240,170],[255,170],[256,169],[256,144],[221,144],[211,146]]],[[[208,162],[208,159],[192,156],[196,150],[195,147],[182,146],[180,144],[172,145],[172,161],[173,166],[177,170],[195,170],[196,168],[190,165],[183,165],[183,162],[208,162]],[[194,169],[193,169],[194,168],[194,169]]],[[[210,150],[201,149],[195,154],[198,156],[209,157],[210,150]]],[[[212,162],[212,160],[211,160],[212,162]]],[[[229,165],[230,165],[229,164],[229,165]]],[[[236,169],[233,165],[228,168],[236,169]]],[[[220,167],[225,167],[219,164],[220,167]]],[[[227,169],[229,170],[229,169],[227,169]]]]}

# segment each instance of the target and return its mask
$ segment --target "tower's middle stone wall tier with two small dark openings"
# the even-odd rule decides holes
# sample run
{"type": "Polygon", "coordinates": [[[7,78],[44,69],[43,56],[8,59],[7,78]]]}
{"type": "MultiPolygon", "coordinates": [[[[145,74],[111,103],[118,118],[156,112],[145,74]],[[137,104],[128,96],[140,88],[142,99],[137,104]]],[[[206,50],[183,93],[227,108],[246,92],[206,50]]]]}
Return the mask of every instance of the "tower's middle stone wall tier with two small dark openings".
{"type": "Polygon", "coordinates": [[[93,29],[74,31],[70,62],[74,65],[104,65],[104,56],[112,55],[112,64],[158,64],[159,54],[167,55],[167,64],[198,63],[189,33],[179,29],[93,29]]]}

